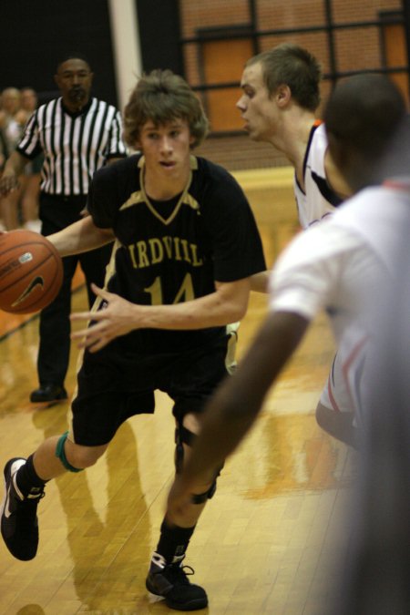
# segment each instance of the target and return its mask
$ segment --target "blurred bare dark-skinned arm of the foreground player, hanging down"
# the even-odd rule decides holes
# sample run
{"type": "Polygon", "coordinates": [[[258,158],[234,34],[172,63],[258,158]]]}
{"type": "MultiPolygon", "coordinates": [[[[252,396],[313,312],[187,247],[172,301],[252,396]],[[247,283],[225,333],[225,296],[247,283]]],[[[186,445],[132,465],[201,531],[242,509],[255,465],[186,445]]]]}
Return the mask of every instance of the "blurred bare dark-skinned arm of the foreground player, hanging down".
{"type": "Polygon", "coordinates": [[[265,395],[302,340],[309,321],[296,313],[271,313],[235,374],[205,408],[190,456],[169,493],[169,517],[177,519],[190,494],[230,456],[251,429],[265,395]]]}

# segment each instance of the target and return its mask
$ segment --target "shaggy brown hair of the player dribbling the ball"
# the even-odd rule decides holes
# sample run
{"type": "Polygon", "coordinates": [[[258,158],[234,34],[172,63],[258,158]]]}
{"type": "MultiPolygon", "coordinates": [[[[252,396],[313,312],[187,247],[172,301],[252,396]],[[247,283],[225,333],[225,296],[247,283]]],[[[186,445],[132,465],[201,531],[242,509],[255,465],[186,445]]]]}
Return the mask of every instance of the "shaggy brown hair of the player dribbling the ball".
{"type": "Polygon", "coordinates": [[[130,147],[138,143],[139,130],[149,120],[159,127],[174,119],[185,119],[198,147],[208,134],[209,122],[200,99],[188,83],[170,70],[153,70],[143,75],[129,97],[124,111],[124,139],[130,147]]]}

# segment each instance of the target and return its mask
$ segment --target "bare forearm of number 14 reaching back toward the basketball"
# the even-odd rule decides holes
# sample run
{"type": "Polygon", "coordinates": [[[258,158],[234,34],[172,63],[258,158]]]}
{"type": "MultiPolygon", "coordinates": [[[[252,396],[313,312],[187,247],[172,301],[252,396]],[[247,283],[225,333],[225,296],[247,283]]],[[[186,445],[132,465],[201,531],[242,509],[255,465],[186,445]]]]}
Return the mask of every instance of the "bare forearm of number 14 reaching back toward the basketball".
{"type": "Polygon", "coordinates": [[[47,236],[60,256],[94,250],[115,239],[111,229],[98,229],[91,216],[70,224],[62,231],[47,236]]]}

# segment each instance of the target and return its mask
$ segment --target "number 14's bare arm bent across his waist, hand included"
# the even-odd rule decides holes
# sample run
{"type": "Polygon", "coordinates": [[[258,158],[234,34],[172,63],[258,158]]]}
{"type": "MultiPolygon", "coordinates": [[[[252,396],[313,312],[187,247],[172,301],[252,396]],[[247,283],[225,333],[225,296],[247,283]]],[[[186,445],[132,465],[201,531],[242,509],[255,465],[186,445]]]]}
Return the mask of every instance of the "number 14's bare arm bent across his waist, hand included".
{"type": "Polygon", "coordinates": [[[134,329],[194,330],[234,323],[246,313],[251,282],[249,278],[236,282],[216,282],[215,292],[187,302],[172,305],[138,305],[128,302],[112,292],[95,292],[107,302],[97,313],[75,313],[71,320],[92,318],[94,326],[73,333],[73,339],[82,339],[80,347],[92,352],[100,350],[118,335],[134,329]]]}

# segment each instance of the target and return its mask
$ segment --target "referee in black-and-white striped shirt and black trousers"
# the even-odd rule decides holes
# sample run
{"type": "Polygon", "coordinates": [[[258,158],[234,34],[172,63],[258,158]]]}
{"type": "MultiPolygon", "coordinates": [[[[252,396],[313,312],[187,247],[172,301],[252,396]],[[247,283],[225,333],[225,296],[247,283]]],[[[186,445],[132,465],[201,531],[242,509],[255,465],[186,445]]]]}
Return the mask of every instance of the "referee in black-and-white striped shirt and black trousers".
{"type": "MultiPolygon", "coordinates": [[[[87,191],[94,172],[127,156],[118,110],[90,95],[93,73],[87,60],[79,55],[66,56],[57,65],[55,80],[61,96],[36,109],[28,120],[0,180],[0,194],[5,196],[17,187],[26,164],[44,154],[39,210],[43,235],[60,231],[87,215],[87,191]]],[[[94,295],[90,283],[103,285],[110,251],[108,245],[63,259],[61,291],[40,313],[39,387],[31,393],[30,401],[47,403],[67,398],[64,381],[70,352],[71,281],[79,261],[91,304],[94,295]]]]}

